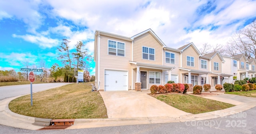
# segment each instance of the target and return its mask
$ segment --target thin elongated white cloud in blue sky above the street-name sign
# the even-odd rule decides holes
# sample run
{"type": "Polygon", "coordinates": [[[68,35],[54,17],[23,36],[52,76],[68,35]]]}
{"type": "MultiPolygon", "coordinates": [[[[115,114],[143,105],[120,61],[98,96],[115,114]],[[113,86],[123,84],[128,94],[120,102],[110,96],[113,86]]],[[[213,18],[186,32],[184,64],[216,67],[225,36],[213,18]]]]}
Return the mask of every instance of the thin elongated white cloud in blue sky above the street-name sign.
{"type": "Polygon", "coordinates": [[[58,39],[51,39],[49,37],[44,37],[42,35],[16,35],[13,34],[12,37],[16,37],[16,38],[22,38],[25,41],[31,42],[31,43],[35,43],[35,44],[39,44],[40,47],[42,48],[51,48],[51,47],[56,47],[59,43],[58,39]]]}

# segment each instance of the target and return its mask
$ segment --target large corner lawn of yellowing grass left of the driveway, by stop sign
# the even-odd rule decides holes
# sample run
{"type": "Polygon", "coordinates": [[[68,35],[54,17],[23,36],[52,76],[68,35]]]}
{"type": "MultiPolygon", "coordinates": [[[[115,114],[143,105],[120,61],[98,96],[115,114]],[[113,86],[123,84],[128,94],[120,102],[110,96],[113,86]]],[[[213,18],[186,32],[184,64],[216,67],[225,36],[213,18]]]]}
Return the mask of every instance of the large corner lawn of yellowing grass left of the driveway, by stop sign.
{"type": "Polygon", "coordinates": [[[55,89],[14,99],[10,110],[38,118],[108,118],[106,106],[99,92],[92,92],[90,83],[69,84],[55,89]]]}

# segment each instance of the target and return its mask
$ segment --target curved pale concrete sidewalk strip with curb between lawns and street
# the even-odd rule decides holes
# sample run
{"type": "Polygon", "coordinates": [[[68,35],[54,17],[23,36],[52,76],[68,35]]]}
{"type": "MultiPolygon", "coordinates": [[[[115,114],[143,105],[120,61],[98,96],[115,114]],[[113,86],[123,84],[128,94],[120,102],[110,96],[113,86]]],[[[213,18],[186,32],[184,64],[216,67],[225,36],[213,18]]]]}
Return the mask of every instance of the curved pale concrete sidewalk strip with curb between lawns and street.
{"type": "MultiPolygon", "coordinates": [[[[19,97],[19,96],[18,96],[19,97]]],[[[38,130],[43,128],[44,125],[50,124],[51,119],[34,118],[30,116],[23,116],[16,114],[9,110],[8,104],[15,98],[12,97],[0,101],[0,124],[6,126],[12,126],[17,128],[38,130]]],[[[122,125],[134,125],[134,124],[153,124],[153,123],[167,123],[167,122],[185,122],[194,120],[206,120],[212,118],[218,118],[227,116],[248,110],[256,106],[256,98],[241,97],[236,95],[214,95],[210,97],[204,97],[222,102],[231,102],[233,100],[233,106],[223,110],[217,110],[212,112],[206,112],[202,114],[187,114],[181,116],[158,116],[158,117],[138,117],[138,118],[106,118],[106,119],[75,119],[74,125],[67,129],[79,129],[79,128],[95,128],[105,126],[122,126],[122,125]]]]}

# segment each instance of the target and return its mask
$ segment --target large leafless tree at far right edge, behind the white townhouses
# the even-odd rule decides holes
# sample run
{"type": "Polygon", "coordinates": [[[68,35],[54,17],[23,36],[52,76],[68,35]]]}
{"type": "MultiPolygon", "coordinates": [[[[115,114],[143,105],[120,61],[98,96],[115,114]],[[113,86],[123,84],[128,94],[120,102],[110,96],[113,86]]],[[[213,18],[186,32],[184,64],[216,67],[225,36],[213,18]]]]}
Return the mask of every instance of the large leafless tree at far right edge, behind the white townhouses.
{"type": "Polygon", "coordinates": [[[256,57],[256,20],[237,31],[228,44],[238,53],[244,53],[247,58],[256,57]]]}

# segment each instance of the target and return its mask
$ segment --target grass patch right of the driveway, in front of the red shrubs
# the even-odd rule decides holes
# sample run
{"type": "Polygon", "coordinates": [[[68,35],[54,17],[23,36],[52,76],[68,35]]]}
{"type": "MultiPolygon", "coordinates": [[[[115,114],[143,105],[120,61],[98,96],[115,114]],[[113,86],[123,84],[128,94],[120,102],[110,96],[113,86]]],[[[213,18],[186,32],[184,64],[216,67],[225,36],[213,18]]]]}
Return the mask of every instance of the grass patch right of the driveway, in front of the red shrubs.
{"type": "Polygon", "coordinates": [[[194,95],[165,94],[152,96],[170,106],[192,114],[221,110],[235,106],[233,104],[205,99],[194,95]]]}

